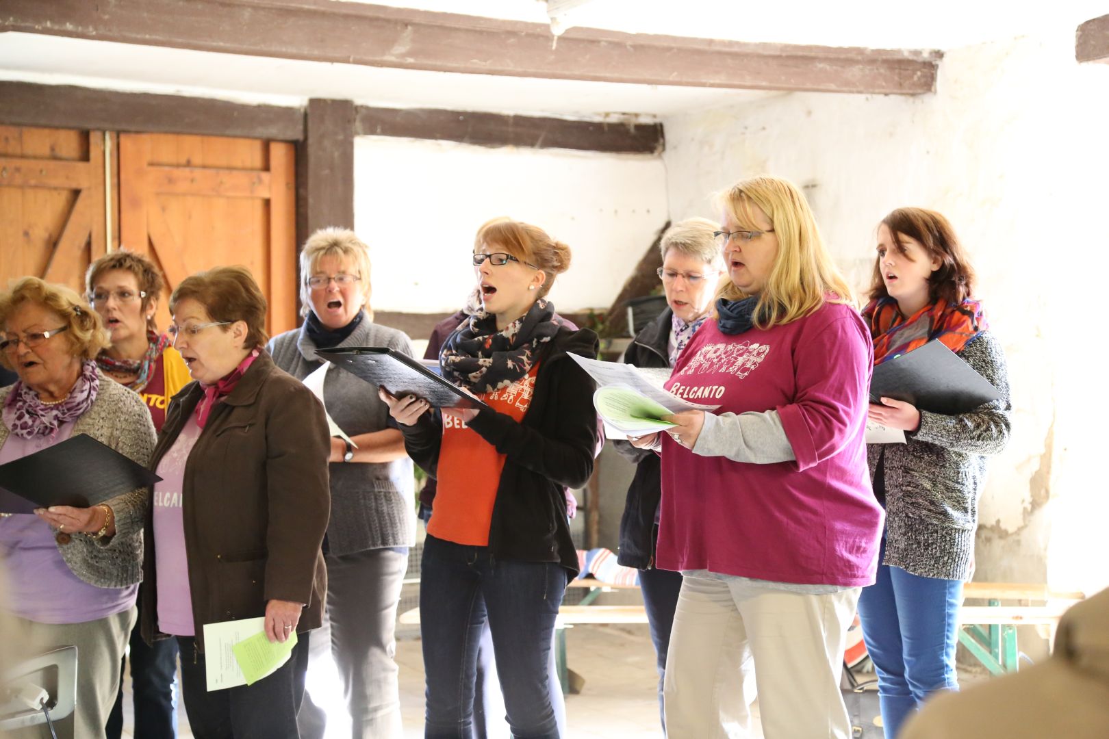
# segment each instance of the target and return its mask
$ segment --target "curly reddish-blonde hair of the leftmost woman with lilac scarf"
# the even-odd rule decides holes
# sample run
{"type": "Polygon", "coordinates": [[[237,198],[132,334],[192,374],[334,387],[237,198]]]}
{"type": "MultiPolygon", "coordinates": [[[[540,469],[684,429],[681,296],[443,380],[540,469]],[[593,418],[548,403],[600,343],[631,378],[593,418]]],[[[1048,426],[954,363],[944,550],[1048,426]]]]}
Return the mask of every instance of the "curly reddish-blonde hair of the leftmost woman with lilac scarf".
{"type": "MultiPolygon", "coordinates": [[[[82,305],[84,301],[81,296],[64,285],[47,283],[38,277],[13,280],[8,285],[8,290],[0,294],[0,327],[24,302],[34,302],[58,314],[65,324],[62,336],[75,357],[95,359],[96,355],[111,345],[100,314],[82,305]]],[[[12,369],[8,363],[7,352],[0,353],[0,362],[12,369]]]]}

